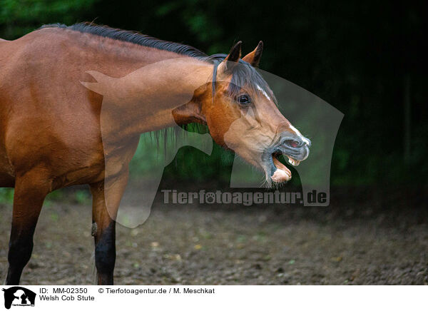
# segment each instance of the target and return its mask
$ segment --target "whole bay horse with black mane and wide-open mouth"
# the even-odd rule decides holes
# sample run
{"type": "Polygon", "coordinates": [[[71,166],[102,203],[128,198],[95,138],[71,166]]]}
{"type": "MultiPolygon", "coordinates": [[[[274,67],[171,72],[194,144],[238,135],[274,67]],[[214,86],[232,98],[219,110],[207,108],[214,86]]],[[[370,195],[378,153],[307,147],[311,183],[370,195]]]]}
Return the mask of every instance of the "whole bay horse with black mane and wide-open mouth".
{"type": "Polygon", "coordinates": [[[46,195],[81,184],[93,197],[98,284],[113,284],[116,222],[107,210],[117,211],[141,133],[203,123],[215,143],[264,170],[268,183],[290,180],[278,155],[298,165],[310,141],[282,116],[255,70],[262,51],[260,41],[241,58],[239,41],[227,55],[207,56],[191,46],[88,23],[51,24],[1,40],[0,186],[15,188],[6,284],[19,284],[31,258],[46,195]],[[142,74],[131,75],[139,68],[142,74]],[[125,105],[118,98],[114,113],[120,117],[107,112],[103,136],[103,96],[89,87],[96,83],[91,70],[129,76],[137,99],[125,105]],[[157,96],[165,104],[145,104],[157,96]],[[106,163],[114,169],[106,172],[106,163]]]}

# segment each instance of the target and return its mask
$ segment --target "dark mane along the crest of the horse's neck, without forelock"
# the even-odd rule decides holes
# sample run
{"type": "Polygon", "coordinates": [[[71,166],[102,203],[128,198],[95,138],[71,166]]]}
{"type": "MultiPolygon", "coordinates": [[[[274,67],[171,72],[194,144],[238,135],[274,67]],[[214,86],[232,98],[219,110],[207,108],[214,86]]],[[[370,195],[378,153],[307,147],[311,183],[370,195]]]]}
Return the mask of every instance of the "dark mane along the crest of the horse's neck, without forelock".
{"type": "Polygon", "coordinates": [[[149,48],[154,48],[158,50],[170,51],[170,52],[178,53],[185,56],[190,56],[195,58],[207,57],[205,53],[194,48],[193,46],[156,39],[153,36],[141,34],[141,32],[138,32],[138,31],[116,29],[116,28],[111,28],[109,26],[98,25],[98,24],[93,24],[89,22],[73,24],[71,26],[67,26],[64,24],[47,24],[40,27],[40,29],[44,29],[44,28],[70,29],[74,31],[80,31],[86,34],[94,34],[96,36],[111,38],[118,41],[130,42],[132,44],[138,44],[140,46],[147,46],[149,48]]]}

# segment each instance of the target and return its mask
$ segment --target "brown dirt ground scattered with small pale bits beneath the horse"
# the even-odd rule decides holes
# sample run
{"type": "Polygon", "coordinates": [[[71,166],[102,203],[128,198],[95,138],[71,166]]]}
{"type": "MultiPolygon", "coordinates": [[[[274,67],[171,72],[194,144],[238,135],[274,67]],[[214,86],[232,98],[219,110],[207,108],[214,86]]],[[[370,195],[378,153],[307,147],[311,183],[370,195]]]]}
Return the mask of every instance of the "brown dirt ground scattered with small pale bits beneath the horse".
{"type": "MultiPolygon", "coordinates": [[[[427,285],[426,201],[362,193],[328,208],[156,203],[140,227],[118,225],[116,285],[427,285]]],[[[10,220],[0,205],[3,278],[10,220]]],[[[93,284],[90,224],[89,205],[45,206],[21,284],[93,284]]]]}

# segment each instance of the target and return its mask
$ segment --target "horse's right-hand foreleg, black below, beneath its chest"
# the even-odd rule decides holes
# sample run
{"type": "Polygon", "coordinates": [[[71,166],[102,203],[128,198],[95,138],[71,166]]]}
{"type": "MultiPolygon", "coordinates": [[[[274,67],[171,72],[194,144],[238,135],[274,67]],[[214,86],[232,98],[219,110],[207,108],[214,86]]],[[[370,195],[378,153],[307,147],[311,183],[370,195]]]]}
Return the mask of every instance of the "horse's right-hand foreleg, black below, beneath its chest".
{"type": "Polygon", "coordinates": [[[116,215],[128,173],[114,181],[91,184],[92,225],[98,285],[113,285],[116,262],[116,215]]]}

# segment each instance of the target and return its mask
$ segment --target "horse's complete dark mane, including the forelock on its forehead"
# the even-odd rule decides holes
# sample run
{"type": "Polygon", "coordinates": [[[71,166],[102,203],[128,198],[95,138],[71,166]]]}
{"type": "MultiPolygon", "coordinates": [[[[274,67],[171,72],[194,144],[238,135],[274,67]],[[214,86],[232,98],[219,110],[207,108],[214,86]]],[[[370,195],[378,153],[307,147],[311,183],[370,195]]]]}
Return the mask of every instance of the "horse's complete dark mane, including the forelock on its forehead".
{"type": "MultiPolygon", "coordinates": [[[[217,67],[226,58],[226,54],[214,54],[208,56],[207,54],[195,49],[193,46],[188,46],[185,44],[178,44],[175,42],[164,41],[161,39],[156,39],[152,36],[146,34],[141,34],[138,31],[128,31],[122,29],[115,29],[109,26],[97,25],[93,23],[78,23],[71,26],[66,26],[64,24],[48,24],[41,26],[41,29],[44,28],[60,28],[60,29],[70,29],[73,31],[80,31],[82,33],[93,34],[96,36],[102,36],[105,38],[111,38],[118,41],[130,42],[133,44],[138,44],[140,46],[148,46],[154,49],[159,49],[163,51],[170,51],[173,53],[178,53],[185,56],[190,56],[198,58],[201,61],[208,61],[214,64],[213,71],[213,93],[215,93],[215,84],[217,76],[217,67]]],[[[265,91],[273,101],[276,102],[275,96],[267,85],[263,77],[258,73],[258,71],[253,68],[249,63],[240,59],[239,66],[235,66],[233,71],[232,80],[230,81],[229,93],[230,96],[235,96],[239,93],[240,88],[243,86],[248,86],[252,91],[258,92],[258,88],[261,88],[265,91]]]]}

